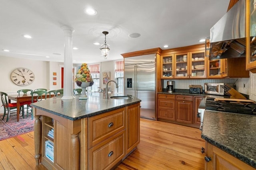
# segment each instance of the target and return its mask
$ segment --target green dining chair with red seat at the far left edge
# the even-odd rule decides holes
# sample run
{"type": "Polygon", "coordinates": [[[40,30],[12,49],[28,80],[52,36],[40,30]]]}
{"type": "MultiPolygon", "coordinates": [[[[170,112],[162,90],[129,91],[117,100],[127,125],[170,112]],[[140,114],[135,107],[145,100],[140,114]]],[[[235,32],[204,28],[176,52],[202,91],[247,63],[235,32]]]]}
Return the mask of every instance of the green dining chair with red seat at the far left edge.
{"type": "MultiPolygon", "coordinates": [[[[8,120],[10,118],[11,110],[12,109],[17,109],[17,103],[9,103],[8,99],[7,99],[7,97],[8,97],[7,93],[0,92],[0,96],[1,96],[2,106],[4,106],[4,115],[3,115],[2,120],[4,120],[4,117],[6,115],[6,109],[7,109],[7,119],[6,119],[6,122],[8,122],[8,120]]],[[[24,118],[24,105],[25,104],[26,104],[25,102],[21,102],[20,103],[20,111],[22,111],[22,117],[23,118],[24,118]]]]}

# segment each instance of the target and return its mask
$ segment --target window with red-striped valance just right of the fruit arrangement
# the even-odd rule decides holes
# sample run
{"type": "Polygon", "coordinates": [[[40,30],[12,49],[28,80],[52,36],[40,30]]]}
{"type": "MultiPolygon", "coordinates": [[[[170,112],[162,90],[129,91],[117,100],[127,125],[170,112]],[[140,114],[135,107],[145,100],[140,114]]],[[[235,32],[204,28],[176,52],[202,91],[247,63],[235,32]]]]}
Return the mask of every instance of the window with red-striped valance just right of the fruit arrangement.
{"type": "Polygon", "coordinates": [[[89,65],[89,69],[94,83],[88,90],[90,92],[97,92],[98,87],[100,87],[100,64],[89,65]]]}

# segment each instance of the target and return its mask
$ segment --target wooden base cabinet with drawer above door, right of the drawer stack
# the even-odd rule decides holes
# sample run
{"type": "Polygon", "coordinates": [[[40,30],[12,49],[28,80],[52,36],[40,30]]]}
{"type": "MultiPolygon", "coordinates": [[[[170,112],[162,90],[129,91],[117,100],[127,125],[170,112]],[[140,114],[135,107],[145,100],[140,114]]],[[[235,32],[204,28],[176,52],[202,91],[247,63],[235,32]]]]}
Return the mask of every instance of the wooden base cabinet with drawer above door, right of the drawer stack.
{"type": "Polygon", "coordinates": [[[193,96],[176,95],[175,120],[182,123],[193,123],[193,96]]]}

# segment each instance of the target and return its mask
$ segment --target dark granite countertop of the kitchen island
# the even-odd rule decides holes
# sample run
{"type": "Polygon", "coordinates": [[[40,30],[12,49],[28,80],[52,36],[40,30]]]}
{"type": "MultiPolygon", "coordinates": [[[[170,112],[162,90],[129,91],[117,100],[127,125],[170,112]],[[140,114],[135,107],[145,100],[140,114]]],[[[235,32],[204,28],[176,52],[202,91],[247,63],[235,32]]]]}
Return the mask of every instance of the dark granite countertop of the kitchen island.
{"type": "Polygon", "coordinates": [[[110,98],[110,96],[123,96],[122,94],[109,94],[108,99],[105,99],[105,95],[105,93],[88,93],[87,100],[79,100],[79,96],[69,100],[54,97],[36,102],[32,106],[66,119],[77,120],[141,102],[135,97],[127,100],[110,98]]]}

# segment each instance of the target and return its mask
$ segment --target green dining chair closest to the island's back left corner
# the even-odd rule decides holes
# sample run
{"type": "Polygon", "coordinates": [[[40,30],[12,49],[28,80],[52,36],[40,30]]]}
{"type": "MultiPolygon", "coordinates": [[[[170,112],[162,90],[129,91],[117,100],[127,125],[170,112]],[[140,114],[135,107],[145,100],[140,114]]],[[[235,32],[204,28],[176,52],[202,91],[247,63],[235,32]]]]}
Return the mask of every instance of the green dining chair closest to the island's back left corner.
{"type": "Polygon", "coordinates": [[[31,102],[30,104],[27,104],[27,117],[29,114],[31,114],[31,119],[33,119],[33,109],[31,104],[35,103],[35,102],[40,102],[42,100],[46,100],[47,99],[47,91],[36,91],[36,92],[31,92],[30,95],[31,96],[37,96],[36,99],[31,98],[31,102]]]}

